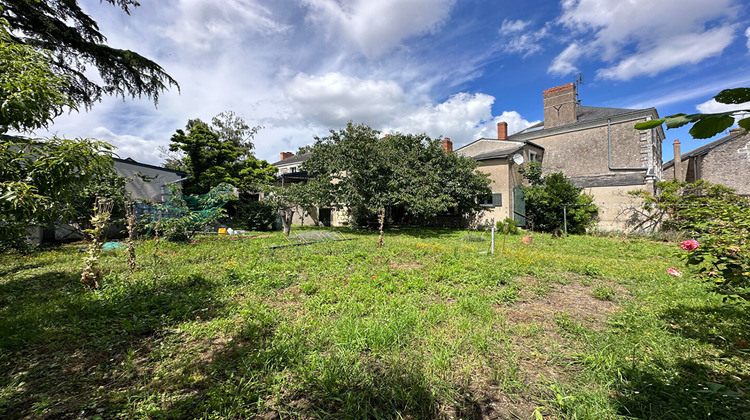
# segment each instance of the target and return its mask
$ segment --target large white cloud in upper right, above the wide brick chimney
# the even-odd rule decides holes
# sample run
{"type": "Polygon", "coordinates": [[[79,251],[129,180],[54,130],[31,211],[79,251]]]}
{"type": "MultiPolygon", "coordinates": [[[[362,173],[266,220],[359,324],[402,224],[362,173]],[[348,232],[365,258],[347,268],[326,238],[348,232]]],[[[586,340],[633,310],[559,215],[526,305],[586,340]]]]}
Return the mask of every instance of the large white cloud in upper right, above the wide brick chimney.
{"type": "MultiPolygon", "coordinates": [[[[558,22],[572,31],[587,57],[614,63],[600,76],[629,80],[721,54],[735,38],[734,3],[565,0],[558,22]]],[[[572,68],[565,65],[570,61],[557,64],[553,63],[550,72],[557,72],[553,67],[568,72],[572,68]]]]}

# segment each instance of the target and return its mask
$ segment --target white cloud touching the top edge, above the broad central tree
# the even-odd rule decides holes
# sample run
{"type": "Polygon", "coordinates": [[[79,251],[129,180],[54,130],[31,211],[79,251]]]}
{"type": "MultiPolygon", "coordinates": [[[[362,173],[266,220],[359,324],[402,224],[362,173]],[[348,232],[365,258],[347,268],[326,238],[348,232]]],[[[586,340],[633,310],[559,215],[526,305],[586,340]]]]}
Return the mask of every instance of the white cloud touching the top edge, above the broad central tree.
{"type": "Polygon", "coordinates": [[[414,35],[439,29],[455,0],[302,0],[308,19],[343,35],[368,57],[377,58],[414,35]]]}

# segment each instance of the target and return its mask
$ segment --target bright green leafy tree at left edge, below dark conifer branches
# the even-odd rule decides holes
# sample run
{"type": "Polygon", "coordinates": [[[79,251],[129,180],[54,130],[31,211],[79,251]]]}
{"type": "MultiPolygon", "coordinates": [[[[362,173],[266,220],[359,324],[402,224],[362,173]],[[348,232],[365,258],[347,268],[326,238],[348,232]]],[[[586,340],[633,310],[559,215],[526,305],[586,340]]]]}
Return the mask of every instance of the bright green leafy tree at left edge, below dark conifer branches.
{"type": "Polygon", "coordinates": [[[4,135],[44,127],[73,105],[66,78],[50,70],[49,55],[8,39],[0,19],[0,249],[23,246],[31,227],[85,218],[91,207],[81,197],[111,178],[114,164],[107,143],[4,135]]]}

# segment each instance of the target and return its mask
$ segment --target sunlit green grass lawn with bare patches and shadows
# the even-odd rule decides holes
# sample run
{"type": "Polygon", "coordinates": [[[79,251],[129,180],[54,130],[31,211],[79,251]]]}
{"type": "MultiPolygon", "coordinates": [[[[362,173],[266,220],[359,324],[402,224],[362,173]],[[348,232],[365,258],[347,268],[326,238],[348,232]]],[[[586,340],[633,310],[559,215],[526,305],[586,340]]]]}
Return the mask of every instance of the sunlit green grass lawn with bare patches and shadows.
{"type": "Polygon", "coordinates": [[[402,229],[0,256],[1,418],[750,418],[750,319],[677,246],[402,229]]]}

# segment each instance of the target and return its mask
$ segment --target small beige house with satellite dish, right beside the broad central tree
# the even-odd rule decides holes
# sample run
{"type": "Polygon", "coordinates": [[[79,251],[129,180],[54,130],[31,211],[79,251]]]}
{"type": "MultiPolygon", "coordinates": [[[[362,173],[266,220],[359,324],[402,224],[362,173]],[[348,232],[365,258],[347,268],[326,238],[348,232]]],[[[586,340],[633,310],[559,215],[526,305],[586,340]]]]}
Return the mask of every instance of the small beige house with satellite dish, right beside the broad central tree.
{"type": "MultiPolygon", "coordinates": [[[[450,139],[443,140],[443,148],[446,152],[452,150],[450,139]]],[[[525,162],[541,162],[544,148],[532,142],[510,140],[508,124],[500,122],[497,124],[496,139],[480,138],[456,149],[455,153],[477,160],[477,171],[488,174],[492,181],[492,195],[480,198],[485,211],[480,215],[479,224],[511,218],[517,220],[519,226],[525,226],[521,193],[524,178],[519,169],[525,162]]]]}

